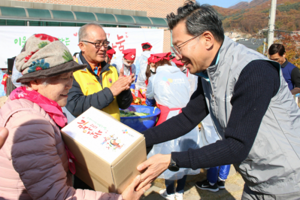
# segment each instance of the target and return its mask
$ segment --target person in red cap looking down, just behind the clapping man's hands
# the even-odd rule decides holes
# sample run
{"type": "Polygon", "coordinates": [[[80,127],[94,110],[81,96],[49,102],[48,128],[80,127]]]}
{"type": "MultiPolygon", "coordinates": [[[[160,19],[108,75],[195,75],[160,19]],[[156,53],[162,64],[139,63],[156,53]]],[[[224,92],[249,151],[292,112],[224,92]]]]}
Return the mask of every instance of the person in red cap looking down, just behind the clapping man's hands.
{"type": "Polygon", "coordinates": [[[120,70],[124,70],[124,76],[133,75],[135,80],[135,48],[128,48],[122,51],[123,57],[118,57],[114,60],[112,66],[115,66],[117,73],[120,74],[120,70]]]}

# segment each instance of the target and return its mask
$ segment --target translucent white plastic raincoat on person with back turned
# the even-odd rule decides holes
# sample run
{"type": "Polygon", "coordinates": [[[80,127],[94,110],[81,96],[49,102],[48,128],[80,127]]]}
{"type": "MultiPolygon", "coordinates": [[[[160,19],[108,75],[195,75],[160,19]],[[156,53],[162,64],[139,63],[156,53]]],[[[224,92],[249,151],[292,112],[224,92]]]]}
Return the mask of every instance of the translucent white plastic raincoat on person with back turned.
{"type": "MultiPolygon", "coordinates": [[[[158,104],[169,108],[182,108],[189,101],[190,93],[190,86],[186,75],[176,66],[164,65],[159,66],[156,69],[156,74],[149,78],[146,97],[150,99],[155,98],[158,104]]],[[[179,110],[170,111],[167,119],[178,113],[179,110]]],[[[147,158],[157,153],[169,154],[172,151],[186,151],[188,148],[200,148],[202,143],[201,135],[196,126],[179,138],[154,144],[147,158]]],[[[167,169],[160,174],[159,178],[178,180],[186,174],[192,175],[199,172],[200,169],[192,170],[191,168],[180,168],[176,172],[167,169]]]]}

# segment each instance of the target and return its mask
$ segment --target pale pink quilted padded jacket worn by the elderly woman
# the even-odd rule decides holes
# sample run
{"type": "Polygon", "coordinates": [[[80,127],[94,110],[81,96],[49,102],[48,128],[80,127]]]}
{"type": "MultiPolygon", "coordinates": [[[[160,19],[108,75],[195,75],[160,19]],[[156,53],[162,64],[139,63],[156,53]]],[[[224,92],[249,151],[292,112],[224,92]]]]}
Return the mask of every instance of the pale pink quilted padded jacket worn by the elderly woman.
{"type": "Polygon", "coordinates": [[[0,199],[122,199],[71,186],[59,128],[36,103],[8,98],[0,109],[0,125],[9,130],[0,149],[0,199]]]}

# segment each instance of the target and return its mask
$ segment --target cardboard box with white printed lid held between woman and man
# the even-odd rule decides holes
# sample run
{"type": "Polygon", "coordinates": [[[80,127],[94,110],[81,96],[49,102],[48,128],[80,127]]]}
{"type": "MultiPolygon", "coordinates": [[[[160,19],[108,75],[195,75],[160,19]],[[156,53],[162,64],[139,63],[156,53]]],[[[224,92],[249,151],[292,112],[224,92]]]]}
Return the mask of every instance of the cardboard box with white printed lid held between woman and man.
{"type": "Polygon", "coordinates": [[[121,193],[147,159],[142,134],[90,107],[61,129],[74,154],[75,175],[96,191],[121,193]]]}

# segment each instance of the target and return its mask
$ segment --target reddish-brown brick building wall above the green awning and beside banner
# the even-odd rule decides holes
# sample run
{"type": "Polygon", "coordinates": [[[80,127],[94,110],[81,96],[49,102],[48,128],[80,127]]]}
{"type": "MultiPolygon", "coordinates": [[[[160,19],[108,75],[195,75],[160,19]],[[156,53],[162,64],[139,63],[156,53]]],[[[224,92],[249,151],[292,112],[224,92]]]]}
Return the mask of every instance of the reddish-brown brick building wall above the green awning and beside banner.
{"type": "MultiPolygon", "coordinates": [[[[176,12],[185,0],[21,0],[40,3],[55,3],[82,5],[116,9],[146,11],[150,17],[164,17],[170,12],[176,12]]],[[[170,32],[164,30],[163,51],[170,51],[170,32]]]]}

